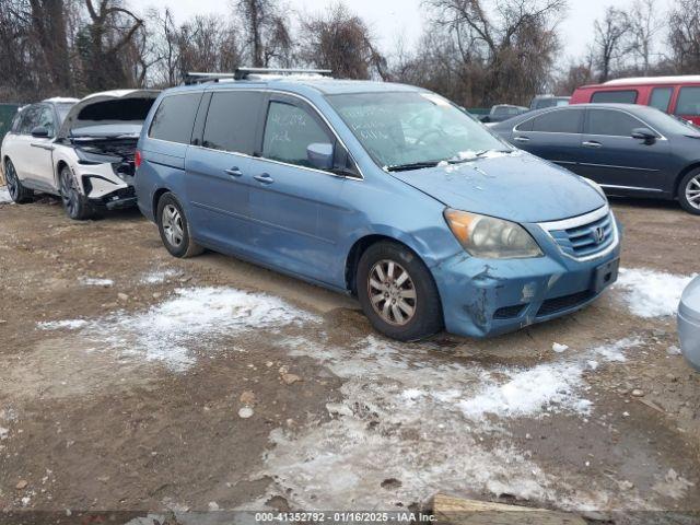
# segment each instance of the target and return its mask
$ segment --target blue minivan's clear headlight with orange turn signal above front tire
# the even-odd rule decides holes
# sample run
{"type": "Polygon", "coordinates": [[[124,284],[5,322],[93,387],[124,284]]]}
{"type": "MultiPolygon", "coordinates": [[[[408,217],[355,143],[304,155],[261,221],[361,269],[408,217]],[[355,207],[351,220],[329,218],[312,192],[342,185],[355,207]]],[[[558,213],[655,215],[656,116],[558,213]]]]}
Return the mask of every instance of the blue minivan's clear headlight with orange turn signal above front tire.
{"type": "Polygon", "coordinates": [[[445,220],[459,244],[474,257],[517,259],[542,255],[532,235],[514,222],[451,209],[445,210],[445,220]]]}

